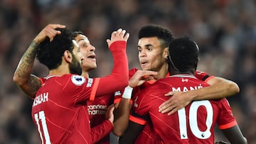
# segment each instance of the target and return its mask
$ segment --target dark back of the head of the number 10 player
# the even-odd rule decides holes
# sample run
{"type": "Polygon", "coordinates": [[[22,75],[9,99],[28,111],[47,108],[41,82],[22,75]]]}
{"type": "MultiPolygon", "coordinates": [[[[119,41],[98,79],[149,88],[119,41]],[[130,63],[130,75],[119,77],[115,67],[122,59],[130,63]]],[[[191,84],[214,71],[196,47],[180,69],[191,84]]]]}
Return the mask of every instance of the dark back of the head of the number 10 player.
{"type": "Polygon", "coordinates": [[[178,72],[192,72],[198,64],[199,48],[194,40],[188,36],[176,38],[169,45],[168,64],[169,69],[174,68],[178,72]]]}

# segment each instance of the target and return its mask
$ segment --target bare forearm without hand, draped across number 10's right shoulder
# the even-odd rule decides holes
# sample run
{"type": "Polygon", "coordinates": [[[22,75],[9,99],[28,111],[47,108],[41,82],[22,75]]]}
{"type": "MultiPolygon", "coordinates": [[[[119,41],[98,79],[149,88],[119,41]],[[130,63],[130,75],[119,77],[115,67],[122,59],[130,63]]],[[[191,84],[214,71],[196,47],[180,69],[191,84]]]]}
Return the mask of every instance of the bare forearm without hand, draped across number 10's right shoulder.
{"type": "Polygon", "coordinates": [[[235,82],[225,80],[213,84],[209,87],[204,87],[202,89],[197,89],[195,91],[190,91],[193,100],[203,100],[203,99],[222,99],[227,96],[232,96],[238,94],[239,87],[235,82]]]}

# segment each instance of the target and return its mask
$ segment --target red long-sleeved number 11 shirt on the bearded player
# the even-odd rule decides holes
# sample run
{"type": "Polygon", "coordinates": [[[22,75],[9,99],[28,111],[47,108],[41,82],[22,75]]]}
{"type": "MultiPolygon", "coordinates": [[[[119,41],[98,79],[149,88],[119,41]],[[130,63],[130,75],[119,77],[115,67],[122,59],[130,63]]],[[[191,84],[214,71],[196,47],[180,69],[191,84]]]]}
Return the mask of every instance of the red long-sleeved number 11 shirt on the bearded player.
{"type": "Polygon", "coordinates": [[[41,79],[42,87],[34,99],[31,115],[42,143],[46,143],[46,139],[50,143],[92,143],[112,131],[110,121],[91,131],[86,104],[95,96],[104,96],[127,86],[126,44],[125,41],[117,41],[110,45],[114,68],[107,77],[85,79],[65,74],[41,79]]]}

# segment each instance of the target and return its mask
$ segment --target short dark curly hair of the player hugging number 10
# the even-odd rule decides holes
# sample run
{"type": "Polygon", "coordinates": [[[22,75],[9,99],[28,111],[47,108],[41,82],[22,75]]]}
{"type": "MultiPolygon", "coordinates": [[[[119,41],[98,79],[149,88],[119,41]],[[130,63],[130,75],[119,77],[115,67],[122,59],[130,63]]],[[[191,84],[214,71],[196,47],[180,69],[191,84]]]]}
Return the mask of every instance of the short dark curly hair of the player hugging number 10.
{"type": "Polygon", "coordinates": [[[161,48],[169,47],[171,40],[174,40],[174,37],[171,34],[171,31],[169,31],[169,29],[156,24],[149,24],[149,25],[143,26],[139,30],[139,34],[138,34],[139,39],[150,38],[150,37],[158,38],[161,43],[161,48]]]}

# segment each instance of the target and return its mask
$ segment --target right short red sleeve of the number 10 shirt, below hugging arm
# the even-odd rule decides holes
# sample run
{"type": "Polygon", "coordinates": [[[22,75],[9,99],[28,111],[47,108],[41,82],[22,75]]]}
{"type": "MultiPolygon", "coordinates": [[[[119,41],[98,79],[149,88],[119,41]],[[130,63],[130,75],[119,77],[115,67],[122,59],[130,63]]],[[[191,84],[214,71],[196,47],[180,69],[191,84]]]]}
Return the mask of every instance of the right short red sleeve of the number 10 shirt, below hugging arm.
{"type": "Polygon", "coordinates": [[[220,114],[218,116],[218,126],[220,129],[227,129],[237,125],[232,109],[227,99],[220,99],[220,114]]]}

